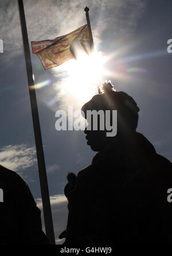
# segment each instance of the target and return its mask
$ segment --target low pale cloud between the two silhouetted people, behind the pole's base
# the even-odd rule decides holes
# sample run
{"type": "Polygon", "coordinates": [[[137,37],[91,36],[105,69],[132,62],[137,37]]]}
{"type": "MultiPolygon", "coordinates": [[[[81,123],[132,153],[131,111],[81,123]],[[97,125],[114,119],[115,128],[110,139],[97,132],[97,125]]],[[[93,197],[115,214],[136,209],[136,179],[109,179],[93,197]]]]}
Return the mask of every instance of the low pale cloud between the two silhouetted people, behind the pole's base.
{"type": "MultiPolygon", "coordinates": [[[[45,232],[44,226],[44,218],[42,211],[42,200],[36,199],[37,207],[41,210],[41,218],[42,218],[42,229],[45,232]]],[[[54,234],[56,243],[60,245],[64,242],[64,239],[58,239],[58,236],[62,231],[65,230],[67,226],[67,218],[68,218],[68,208],[67,208],[67,198],[64,195],[54,195],[50,196],[50,203],[52,208],[52,216],[53,216],[53,226],[54,226],[54,234]]]]}

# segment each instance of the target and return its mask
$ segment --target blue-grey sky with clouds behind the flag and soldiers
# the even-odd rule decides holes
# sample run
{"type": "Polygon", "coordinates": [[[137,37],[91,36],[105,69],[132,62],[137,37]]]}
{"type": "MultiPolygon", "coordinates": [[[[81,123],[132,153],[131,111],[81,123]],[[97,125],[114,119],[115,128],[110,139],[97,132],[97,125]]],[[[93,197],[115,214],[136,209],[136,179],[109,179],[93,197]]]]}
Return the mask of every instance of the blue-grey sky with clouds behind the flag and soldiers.
{"type": "MultiPolygon", "coordinates": [[[[167,40],[172,38],[171,5],[169,0],[24,0],[29,41],[53,39],[79,28],[86,24],[84,7],[90,8],[95,45],[107,59],[108,75],[102,80],[110,79],[116,90],[135,99],[140,108],[138,131],[170,161],[172,54],[167,53],[167,40]]],[[[17,1],[1,3],[0,21],[4,47],[0,53],[0,161],[21,174],[41,207],[17,1]]],[[[78,173],[89,165],[95,152],[87,146],[83,131],[57,131],[55,113],[69,104],[80,108],[87,88],[76,97],[68,90],[73,85],[68,84],[67,67],[44,71],[32,51],[31,57],[35,83],[47,84],[36,93],[57,238],[67,221],[67,201],[62,196],[65,177],[68,171],[78,173]]]]}

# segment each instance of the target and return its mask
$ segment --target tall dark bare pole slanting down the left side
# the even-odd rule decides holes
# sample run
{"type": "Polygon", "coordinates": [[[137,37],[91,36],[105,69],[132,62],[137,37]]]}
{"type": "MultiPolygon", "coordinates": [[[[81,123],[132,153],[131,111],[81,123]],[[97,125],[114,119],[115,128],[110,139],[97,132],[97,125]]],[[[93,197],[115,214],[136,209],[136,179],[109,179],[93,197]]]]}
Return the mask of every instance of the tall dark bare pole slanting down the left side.
{"type": "Polygon", "coordinates": [[[46,232],[46,235],[48,236],[50,244],[54,245],[55,238],[54,238],[54,230],[53,230],[52,211],[50,207],[50,198],[49,198],[49,190],[48,190],[48,181],[46,176],[44,150],[42,146],[40,120],[38,115],[36,91],[34,88],[32,62],[30,57],[28,32],[26,28],[23,0],[18,0],[18,8],[19,8],[19,17],[21,22],[23,44],[24,44],[26,71],[28,76],[28,86],[29,86],[29,95],[30,95],[30,105],[32,110],[34,137],[35,137],[36,150],[37,150],[38,170],[40,175],[40,187],[41,187],[41,196],[42,196],[42,207],[44,211],[45,232],[46,232]]]}

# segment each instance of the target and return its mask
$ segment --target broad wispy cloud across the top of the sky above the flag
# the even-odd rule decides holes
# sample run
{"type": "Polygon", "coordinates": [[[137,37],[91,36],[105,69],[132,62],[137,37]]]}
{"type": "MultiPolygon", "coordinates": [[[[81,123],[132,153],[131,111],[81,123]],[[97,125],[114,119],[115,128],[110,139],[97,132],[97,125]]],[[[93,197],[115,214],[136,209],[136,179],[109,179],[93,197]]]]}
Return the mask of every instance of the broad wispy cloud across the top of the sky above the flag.
{"type": "MultiPolygon", "coordinates": [[[[25,0],[29,40],[53,39],[86,23],[84,7],[89,6],[93,37],[104,41],[131,36],[145,6],[140,0],[25,0]],[[76,15],[77,14],[77,15],[76,15]]],[[[22,37],[17,1],[2,1],[0,10],[1,39],[10,57],[22,54],[22,37]]]]}

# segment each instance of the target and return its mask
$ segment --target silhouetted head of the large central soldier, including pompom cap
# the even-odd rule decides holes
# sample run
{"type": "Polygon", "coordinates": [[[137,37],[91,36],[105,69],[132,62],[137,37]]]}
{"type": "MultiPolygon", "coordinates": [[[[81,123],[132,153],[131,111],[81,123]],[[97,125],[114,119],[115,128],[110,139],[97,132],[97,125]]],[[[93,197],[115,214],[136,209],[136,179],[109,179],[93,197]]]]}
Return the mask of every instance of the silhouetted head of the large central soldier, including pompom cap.
{"type": "Polygon", "coordinates": [[[97,113],[100,113],[100,110],[103,110],[104,129],[102,129],[102,123],[100,125],[101,118],[98,114],[96,120],[93,120],[94,115],[91,116],[91,130],[88,130],[86,128],[84,131],[84,133],[87,134],[87,144],[91,146],[91,149],[96,152],[100,152],[106,149],[107,147],[111,146],[111,144],[115,141],[119,142],[121,140],[126,140],[127,138],[130,138],[132,134],[135,133],[136,127],[138,125],[139,108],[135,100],[132,99],[131,96],[122,91],[115,91],[111,82],[104,82],[101,86],[101,90],[103,91],[102,94],[93,96],[93,98],[89,100],[89,102],[85,103],[84,106],[81,108],[87,121],[88,113],[91,113],[90,111],[96,110],[97,113]],[[113,110],[117,111],[117,123],[113,122],[113,119],[116,117],[113,114],[113,110]],[[107,129],[106,121],[110,122],[109,125],[111,127],[113,125],[116,125],[117,133],[115,134],[115,136],[107,136],[107,133],[110,134],[110,132],[112,131],[107,129]],[[94,122],[97,122],[97,129],[94,129],[93,127],[94,122]]]}

